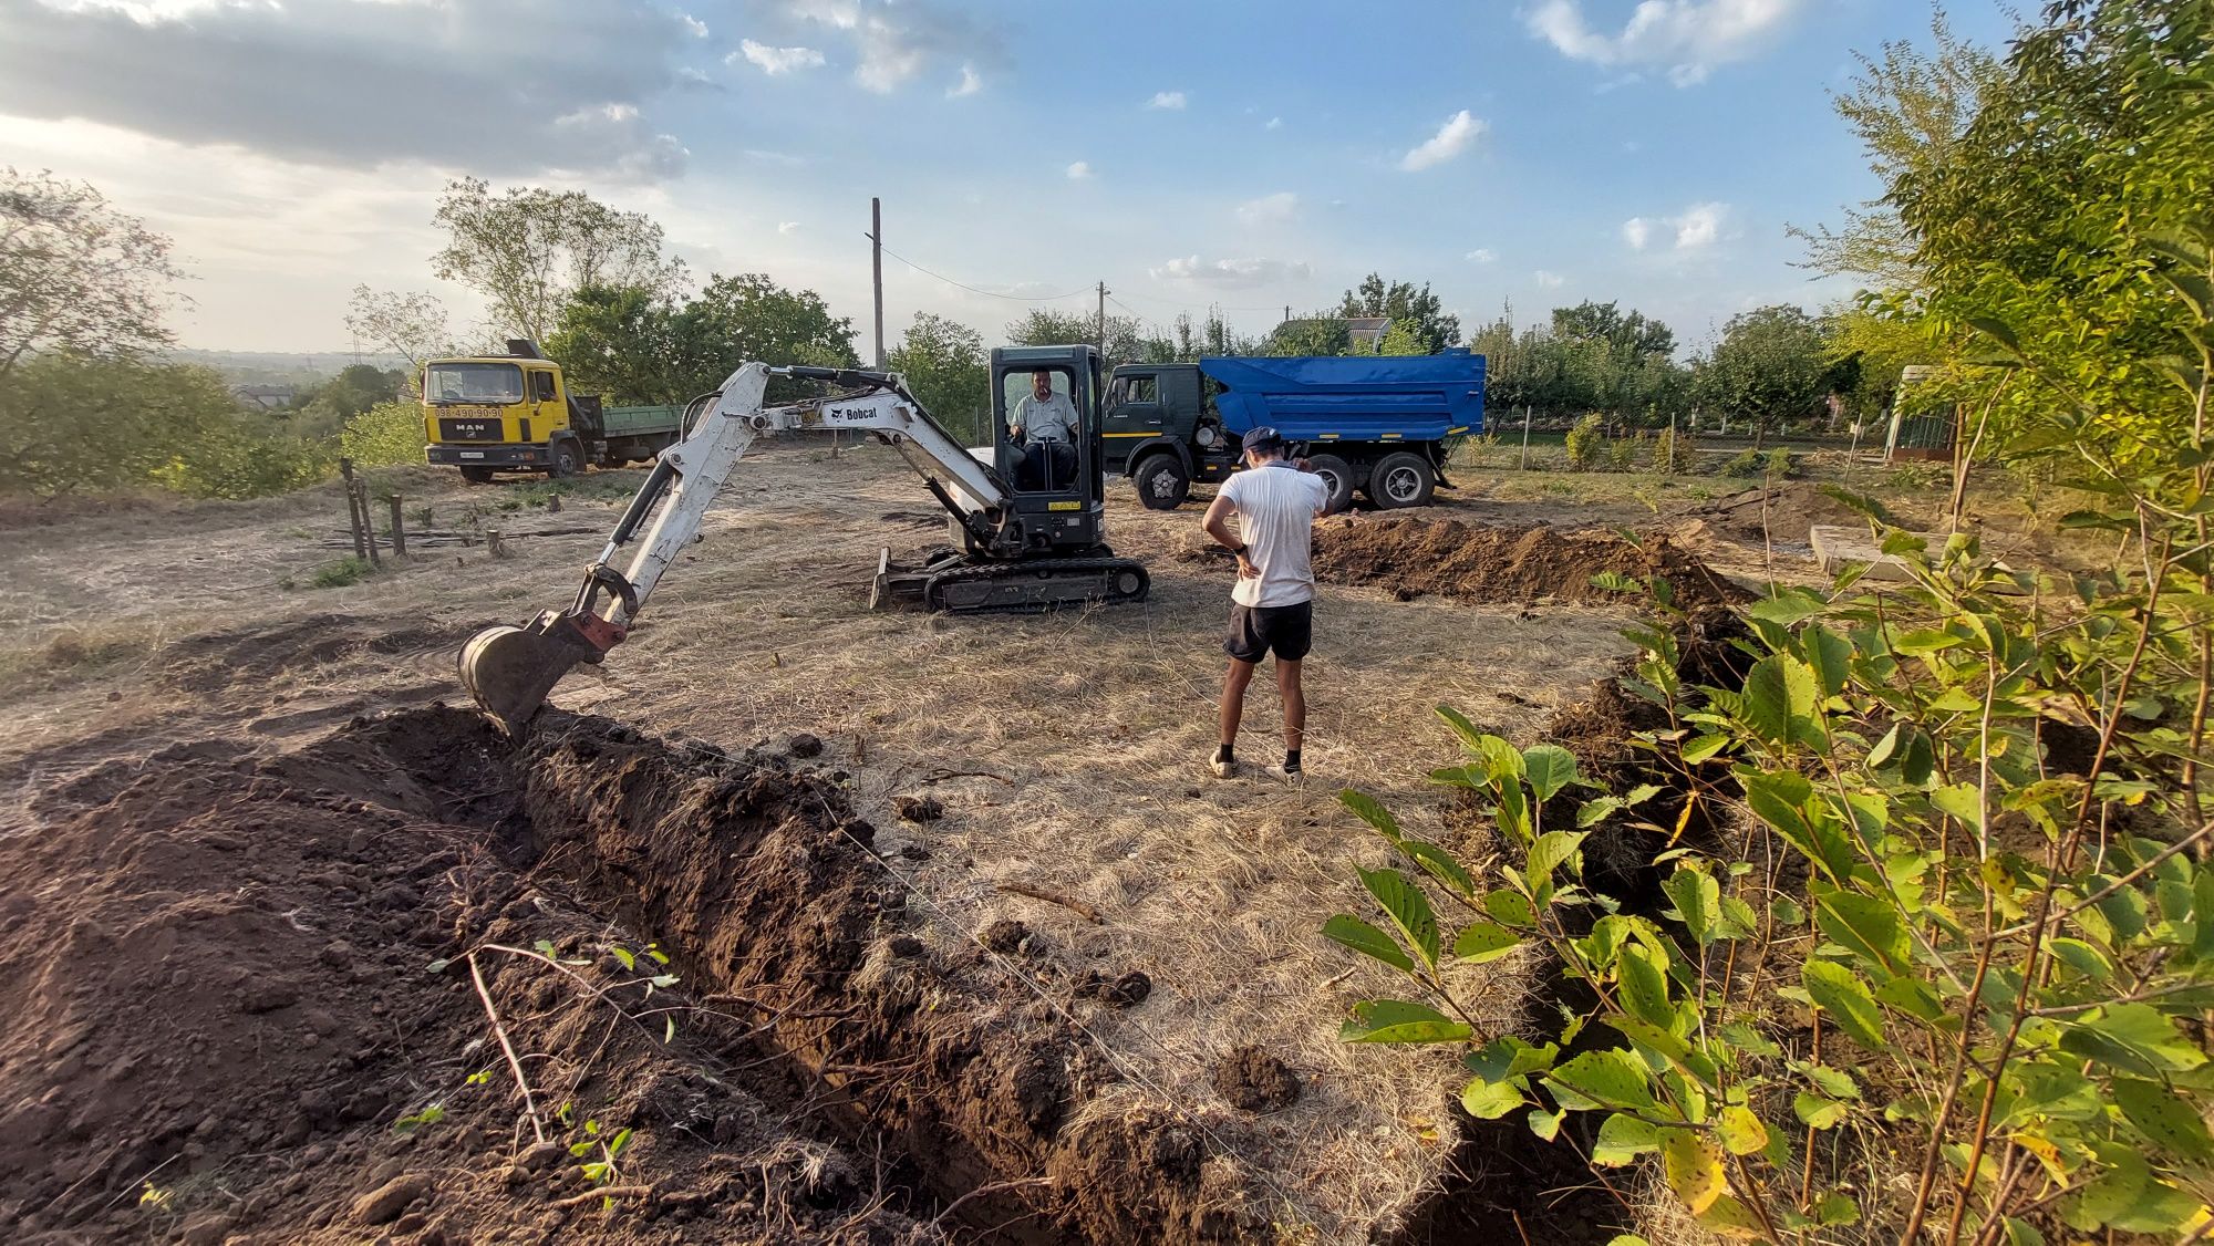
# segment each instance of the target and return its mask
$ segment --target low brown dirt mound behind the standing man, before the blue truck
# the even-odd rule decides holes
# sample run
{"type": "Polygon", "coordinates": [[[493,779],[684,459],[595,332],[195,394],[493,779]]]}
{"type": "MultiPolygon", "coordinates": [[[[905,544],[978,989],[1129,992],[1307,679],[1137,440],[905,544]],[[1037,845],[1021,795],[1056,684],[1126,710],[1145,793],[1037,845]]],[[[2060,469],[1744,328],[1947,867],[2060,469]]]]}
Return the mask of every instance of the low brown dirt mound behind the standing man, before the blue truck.
{"type": "Polygon", "coordinates": [[[1452,520],[1344,518],[1315,529],[1315,578],[1375,584],[1410,600],[1623,602],[1592,575],[1667,578],[1683,604],[1736,602],[1747,593],[1665,536],[1630,544],[1614,533],[1550,527],[1479,527],[1452,520]]]}

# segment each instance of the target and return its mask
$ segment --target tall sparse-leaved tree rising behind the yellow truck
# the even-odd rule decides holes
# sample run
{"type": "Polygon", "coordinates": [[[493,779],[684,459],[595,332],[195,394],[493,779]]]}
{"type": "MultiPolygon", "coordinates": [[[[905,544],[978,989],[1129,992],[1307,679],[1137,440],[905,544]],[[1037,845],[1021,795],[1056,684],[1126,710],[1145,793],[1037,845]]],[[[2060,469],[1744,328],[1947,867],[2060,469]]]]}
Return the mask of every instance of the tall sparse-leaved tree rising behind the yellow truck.
{"type": "Polygon", "coordinates": [[[476,179],[445,184],[434,215],[447,232],[432,257],[438,277],[492,301],[503,332],[545,341],[569,297],[584,285],[635,285],[673,294],[684,261],[662,255],[662,228],[644,212],[618,212],[582,190],[476,179]]]}

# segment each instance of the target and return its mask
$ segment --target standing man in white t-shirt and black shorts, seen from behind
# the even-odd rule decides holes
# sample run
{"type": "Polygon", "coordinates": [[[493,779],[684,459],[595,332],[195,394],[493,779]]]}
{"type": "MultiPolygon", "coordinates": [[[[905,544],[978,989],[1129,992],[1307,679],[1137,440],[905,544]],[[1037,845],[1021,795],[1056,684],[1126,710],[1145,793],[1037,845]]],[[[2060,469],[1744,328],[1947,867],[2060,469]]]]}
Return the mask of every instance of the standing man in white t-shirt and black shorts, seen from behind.
{"type": "Polygon", "coordinates": [[[1315,516],[1328,511],[1331,485],[1284,458],[1284,438],[1271,427],[1244,436],[1244,465],[1222,482],[1207,507],[1207,536],[1238,555],[1231,589],[1231,626],[1222,648],[1231,655],[1222,682],[1222,746],[1207,766],[1215,777],[1238,772],[1238,719],[1253,666],[1275,653],[1275,686],[1284,695],[1284,777],[1300,777],[1300,746],[1306,741],[1306,691],[1300,660],[1315,633],[1315,516]],[[1231,513],[1238,531],[1231,536],[1231,513]]]}

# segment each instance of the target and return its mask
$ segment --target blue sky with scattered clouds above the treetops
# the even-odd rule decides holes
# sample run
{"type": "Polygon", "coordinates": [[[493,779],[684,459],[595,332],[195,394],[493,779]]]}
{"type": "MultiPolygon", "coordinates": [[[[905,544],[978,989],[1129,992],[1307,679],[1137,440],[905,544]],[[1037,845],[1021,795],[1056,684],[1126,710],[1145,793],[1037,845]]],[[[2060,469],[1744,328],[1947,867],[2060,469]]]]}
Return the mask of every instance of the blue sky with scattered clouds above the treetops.
{"type": "MultiPolygon", "coordinates": [[[[182,345],[350,347],[430,290],[438,190],[580,188],[695,279],[817,290],[870,341],[1030,308],[1244,332],[1368,272],[1463,325],[1618,301],[1698,347],[1851,294],[1787,224],[1877,193],[1831,108],[1926,0],[0,0],[0,164],[168,232],[182,345]]],[[[1953,27],[1999,44],[1997,0],[1953,27]]]]}

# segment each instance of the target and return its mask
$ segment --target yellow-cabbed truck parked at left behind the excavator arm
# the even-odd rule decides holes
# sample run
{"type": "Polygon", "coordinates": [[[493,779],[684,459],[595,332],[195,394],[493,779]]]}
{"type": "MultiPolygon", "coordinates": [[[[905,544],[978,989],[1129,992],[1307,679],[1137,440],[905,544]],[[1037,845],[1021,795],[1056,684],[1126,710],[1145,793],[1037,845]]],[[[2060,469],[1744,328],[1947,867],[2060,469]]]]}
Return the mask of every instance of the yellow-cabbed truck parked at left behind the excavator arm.
{"type": "Polygon", "coordinates": [[[576,396],[538,343],[516,339],[507,354],[423,365],[423,434],[430,463],[483,485],[494,471],[576,476],[584,465],[651,460],[684,434],[684,409],[576,396]]]}

